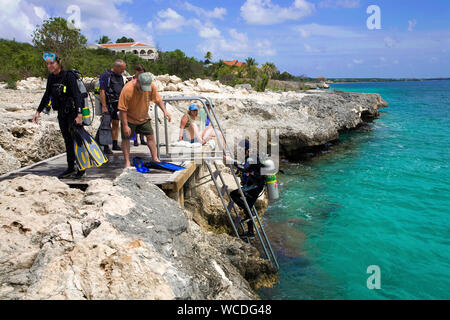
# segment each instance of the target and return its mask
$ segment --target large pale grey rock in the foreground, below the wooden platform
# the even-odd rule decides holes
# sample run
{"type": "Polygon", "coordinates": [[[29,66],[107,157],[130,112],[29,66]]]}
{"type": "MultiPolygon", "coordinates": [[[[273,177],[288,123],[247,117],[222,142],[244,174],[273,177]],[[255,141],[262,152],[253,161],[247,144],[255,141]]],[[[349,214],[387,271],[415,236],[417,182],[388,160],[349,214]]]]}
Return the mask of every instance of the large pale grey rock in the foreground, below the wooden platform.
{"type": "Polygon", "coordinates": [[[203,231],[145,176],[83,192],[0,182],[0,299],[254,299],[277,273],[250,245],[203,231]]]}

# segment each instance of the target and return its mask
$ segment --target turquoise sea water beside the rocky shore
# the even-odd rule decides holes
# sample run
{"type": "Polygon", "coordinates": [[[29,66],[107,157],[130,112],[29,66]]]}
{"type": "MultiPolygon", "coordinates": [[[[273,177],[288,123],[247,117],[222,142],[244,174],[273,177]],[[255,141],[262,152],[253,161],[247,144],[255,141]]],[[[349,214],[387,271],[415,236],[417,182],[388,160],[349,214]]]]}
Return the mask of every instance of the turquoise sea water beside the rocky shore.
{"type": "Polygon", "coordinates": [[[266,299],[450,299],[450,81],[336,84],[388,101],[369,132],[286,164],[265,224],[280,281],[266,299]],[[367,288],[367,267],[381,289],[367,288]]]}

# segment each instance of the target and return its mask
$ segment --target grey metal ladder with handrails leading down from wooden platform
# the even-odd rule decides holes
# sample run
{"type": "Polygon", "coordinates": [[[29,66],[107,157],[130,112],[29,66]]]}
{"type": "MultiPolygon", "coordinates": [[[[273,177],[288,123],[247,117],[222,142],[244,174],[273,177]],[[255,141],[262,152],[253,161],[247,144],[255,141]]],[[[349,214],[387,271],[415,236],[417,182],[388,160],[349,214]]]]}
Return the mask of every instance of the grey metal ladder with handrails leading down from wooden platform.
{"type": "MultiPolygon", "coordinates": [[[[214,105],[212,104],[212,101],[210,99],[205,98],[205,97],[199,97],[199,96],[197,96],[197,97],[167,97],[167,98],[164,98],[163,101],[164,101],[164,104],[166,104],[167,102],[172,102],[172,101],[199,101],[199,102],[201,102],[203,104],[203,108],[206,111],[207,116],[209,117],[211,126],[214,129],[214,133],[216,135],[220,149],[222,150],[222,154],[229,154],[231,156],[233,155],[230,150],[229,144],[227,143],[225,133],[224,133],[224,131],[220,125],[220,122],[217,118],[217,115],[214,111],[214,105]],[[206,107],[206,102],[209,103],[210,109],[208,109],[206,107]],[[222,139],[220,137],[223,137],[224,143],[222,143],[222,139]]],[[[159,155],[160,143],[159,143],[159,134],[158,134],[158,111],[157,111],[157,109],[158,108],[155,108],[156,143],[157,143],[157,150],[158,150],[158,155],[159,155]]],[[[165,118],[164,118],[164,127],[165,127],[165,138],[166,138],[166,142],[167,142],[168,141],[167,120],[165,118]]],[[[168,143],[166,143],[166,154],[167,154],[167,156],[169,156],[168,143]]],[[[171,159],[176,160],[176,158],[171,158],[171,159]]],[[[245,229],[244,229],[243,223],[247,222],[247,220],[241,221],[241,219],[240,219],[238,210],[236,209],[236,206],[230,197],[230,190],[229,190],[227,184],[225,183],[225,179],[223,178],[223,175],[222,175],[221,170],[219,169],[219,166],[217,165],[216,160],[219,160],[219,159],[220,159],[220,157],[217,157],[217,156],[203,158],[203,163],[208,168],[209,176],[211,176],[211,179],[208,181],[199,183],[196,187],[203,185],[205,183],[208,183],[210,181],[214,182],[214,186],[217,189],[220,200],[222,201],[222,205],[227,213],[227,216],[228,216],[230,224],[233,228],[233,231],[234,231],[236,237],[241,239],[239,232],[238,232],[238,228],[240,227],[242,229],[242,231],[244,232],[245,229]],[[213,167],[215,170],[213,170],[213,167]],[[219,184],[218,180],[220,180],[220,184],[219,184]],[[228,203],[225,200],[225,195],[229,199],[228,203]],[[233,218],[233,213],[234,213],[234,218],[233,218]]],[[[249,207],[249,205],[247,203],[247,199],[244,195],[244,192],[242,191],[240,181],[235,174],[233,165],[232,164],[226,164],[226,165],[230,168],[231,173],[236,182],[237,189],[239,190],[240,196],[244,200],[244,204],[245,204],[244,210],[246,210],[246,212],[248,213],[248,216],[253,221],[254,228],[256,229],[256,236],[257,236],[257,239],[259,240],[259,243],[261,244],[261,247],[263,248],[265,258],[267,260],[269,260],[273,266],[275,266],[277,269],[279,269],[277,258],[272,249],[272,246],[267,237],[267,234],[264,231],[264,226],[261,222],[258,211],[256,210],[255,206],[253,206],[252,208],[249,207]]],[[[208,175],[200,178],[200,180],[203,178],[206,178],[206,177],[208,177],[208,175]]],[[[247,241],[250,242],[249,239],[247,239],[247,241]]]]}

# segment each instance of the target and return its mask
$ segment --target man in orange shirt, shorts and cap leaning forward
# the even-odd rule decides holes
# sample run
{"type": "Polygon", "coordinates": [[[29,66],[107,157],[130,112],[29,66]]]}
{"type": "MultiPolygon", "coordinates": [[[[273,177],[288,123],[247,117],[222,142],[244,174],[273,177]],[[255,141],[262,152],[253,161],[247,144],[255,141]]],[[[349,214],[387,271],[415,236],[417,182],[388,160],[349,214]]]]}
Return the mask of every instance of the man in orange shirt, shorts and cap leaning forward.
{"type": "Polygon", "coordinates": [[[164,107],[164,102],[156,86],[152,83],[153,77],[149,72],[137,73],[135,79],[128,82],[122,89],[119,97],[120,120],[122,122],[122,152],[125,158],[125,168],[130,167],[130,138],[134,133],[144,134],[152,160],[160,162],[156,152],[155,136],[152,123],[148,115],[150,101],[156,103],[164,112],[167,120],[171,116],[164,107]]]}

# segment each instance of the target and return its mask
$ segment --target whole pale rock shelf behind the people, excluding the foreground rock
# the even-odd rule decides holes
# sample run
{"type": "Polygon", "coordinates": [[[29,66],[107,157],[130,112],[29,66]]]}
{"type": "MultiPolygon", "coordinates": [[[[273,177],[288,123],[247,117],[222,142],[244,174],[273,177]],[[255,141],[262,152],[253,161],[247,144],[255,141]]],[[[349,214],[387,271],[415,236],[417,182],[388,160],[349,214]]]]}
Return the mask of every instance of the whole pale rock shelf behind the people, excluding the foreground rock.
{"type": "MultiPolygon", "coordinates": [[[[323,90],[260,93],[246,86],[232,88],[219,81],[202,79],[181,81],[170,75],[156,76],[155,84],[163,97],[206,96],[212,99],[229,140],[242,137],[242,129],[256,132],[278,128],[280,150],[292,160],[298,159],[308,148],[337,140],[341,131],[364,125],[378,117],[379,108],[387,106],[378,94],[323,90]]],[[[0,146],[22,166],[64,150],[55,112],[50,116],[42,115],[41,124],[37,126],[30,123],[41,97],[42,90],[0,90],[0,112],[5,114],[1,120],[4,129],[0,130],[0,146]]],[[[169,142],[177,140],[179,121],[190,103],[167,104],[173,119],[169,123],[169,142]]],[[[161,112],[158,121],[163,122],[161,112]]],[[[96,123],[89,128],[91,133],[95,133],[96,123]]]]}

